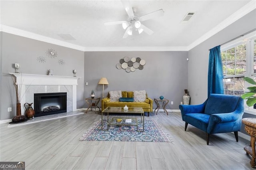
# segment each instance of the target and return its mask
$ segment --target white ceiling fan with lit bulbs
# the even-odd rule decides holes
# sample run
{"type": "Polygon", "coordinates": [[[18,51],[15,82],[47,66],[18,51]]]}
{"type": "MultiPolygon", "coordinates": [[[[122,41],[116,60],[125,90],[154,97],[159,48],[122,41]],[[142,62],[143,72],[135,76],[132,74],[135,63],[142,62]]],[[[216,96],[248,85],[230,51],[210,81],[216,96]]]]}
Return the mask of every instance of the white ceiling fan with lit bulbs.
{"type": "Polygon", "coordinates": [[[117,25],[122,24],[122,27],[124,30],[124,36],[123,38],[127,38],[129,35],[131,36],[133,34],[133,31],[137,31],[139,34],[142,32],[145,32],[148,35],[152,35],[154,32],[150,30],[148,27],[141,24],[142,21],[146,21],[152,18],[156,18],[159,16],[164,15],[164,10],[156,10],[154,12],[150,12],[149,14],[143,15],[143,16],[136,16],[134,15],[134,10],[132,9],[132,6],[130,5],[129,1],[127,0],[121,0],[124,9],[126,10],[126,13],[128,14],[127,21],[114,21],[114,22],[104,22],[105,26],[110,25],[117,25]]]}

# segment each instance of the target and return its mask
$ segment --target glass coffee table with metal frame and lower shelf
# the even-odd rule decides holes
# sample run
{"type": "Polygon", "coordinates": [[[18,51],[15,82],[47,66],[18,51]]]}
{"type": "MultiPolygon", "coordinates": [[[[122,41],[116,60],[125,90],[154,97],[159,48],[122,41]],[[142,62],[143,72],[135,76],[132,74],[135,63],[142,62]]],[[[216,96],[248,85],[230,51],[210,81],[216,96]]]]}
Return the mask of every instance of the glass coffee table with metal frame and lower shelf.
{"type": "Polygon", "coordinates": [[[136,126],[138,132],[144,132],[144,111],[141,107],[129,107],[128,110],[124,110],[123,107],[107,107],[106,109],[104,109],[101,113],[101,130],[108,130],[108,128],[103,129],[103,113],[108,115],[108,126],[136,126]],[[140,123],[142,123],[143,130],[138,130],[138,121],[136,117],[113,117],[112,119],[109,119],[109,113],[139,113],[141,115],[140,123]]]}

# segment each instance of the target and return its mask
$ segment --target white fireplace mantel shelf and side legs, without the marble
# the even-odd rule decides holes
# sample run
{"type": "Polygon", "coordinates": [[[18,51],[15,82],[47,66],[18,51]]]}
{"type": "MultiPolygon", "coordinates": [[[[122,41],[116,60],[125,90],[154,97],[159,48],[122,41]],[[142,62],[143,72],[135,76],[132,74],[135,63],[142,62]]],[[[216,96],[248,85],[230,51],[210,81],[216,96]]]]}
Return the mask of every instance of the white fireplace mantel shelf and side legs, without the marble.
{"type": "MultiPolygon", "coordinates": [[[[30,86],[72,86],[72,111],[76,111],[76,85],[80,77],[68,77],[68,76],[56,76],[56,75],[36,75],[36,74],[20,74],[20,73],[9,73],[16,77],[16,82],[18,83],[18,89],[20,89],[21,94],[26,93],[26,89],[30,86]],[[25,87],[26,86],[26,87],[25,87]]],[[[58,88],[60,89],[60,88],[58,88]]],[[[40,93],[40,92],[38,92],[40,93]]],[[[26,95],[24,95],[26,96],[26,95]]],[[[21,105],[26,103],[26,98],[23,97],[20,100],[21,105]]],[[[25,110],[22,107],[22,115],[25,110]]]]}

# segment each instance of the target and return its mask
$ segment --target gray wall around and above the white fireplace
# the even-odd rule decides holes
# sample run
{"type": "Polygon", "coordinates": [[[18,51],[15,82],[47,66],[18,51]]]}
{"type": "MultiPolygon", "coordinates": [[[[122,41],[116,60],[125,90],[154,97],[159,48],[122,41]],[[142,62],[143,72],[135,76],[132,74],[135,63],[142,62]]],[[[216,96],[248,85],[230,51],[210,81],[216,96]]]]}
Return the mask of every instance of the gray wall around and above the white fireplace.
{"type": "Polygon", "coordinates": [[[78,51],[51,43],[40,42],[13,34],[2,33],[1,50],[1,115],[0,120],[11,119],[16,115],[16,95],[12,79],[8,73],[14,73],[14,63],[20,63],[20,72],[26,74],[47,75],[48,69],[53,69],[54,75],[73,76],[77,70],[77,108],[84,105],[84,51],[78,51]],[[52,48],[58,53],[55,59],[46,55],[46,50],[52,48]],[[46,58],[45,63],[39,63],[37,57],[46,58]],[[58,59],[64,59],[65,65],[59,65],[58,59]],[[7,112],[12,107],[12,112],[7,112]]]}

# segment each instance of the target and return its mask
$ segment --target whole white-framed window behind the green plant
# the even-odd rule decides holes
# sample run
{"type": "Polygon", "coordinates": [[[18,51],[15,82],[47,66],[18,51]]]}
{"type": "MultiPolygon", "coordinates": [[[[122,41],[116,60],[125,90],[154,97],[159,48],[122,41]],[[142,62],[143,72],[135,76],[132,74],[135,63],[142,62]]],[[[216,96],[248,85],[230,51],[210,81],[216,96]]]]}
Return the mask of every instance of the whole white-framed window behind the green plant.
{"type": "MultiPolygon", "coordinates": [[[[221,57],[225,94],[241,96],[248,91],[247,87],[253,86],[245,82],[244,77],[256,81],[256,32],[222,45],[221,57]]],[[[250,107],[250,110],[255,113],[256,105],[250,107]]]]}

